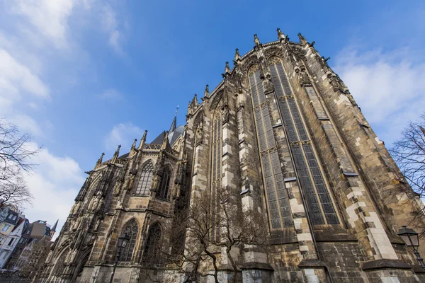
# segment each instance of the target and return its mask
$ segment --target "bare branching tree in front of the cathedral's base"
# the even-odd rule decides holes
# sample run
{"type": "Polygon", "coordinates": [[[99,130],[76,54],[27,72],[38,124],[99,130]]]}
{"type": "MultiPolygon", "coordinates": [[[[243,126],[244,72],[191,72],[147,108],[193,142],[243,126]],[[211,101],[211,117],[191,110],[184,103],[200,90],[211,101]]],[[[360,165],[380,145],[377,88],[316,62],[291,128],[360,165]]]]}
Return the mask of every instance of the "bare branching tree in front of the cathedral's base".
{"type": "Polygon", "coordinates": [[[218,190],[215,200],[208,192],[200,192],[186,211],[174,216],[165,235],[162,253],[169,265],[185,273],[185,282],[199,282],[200,277],[220,282],[222,260],[217,255],[222,249],[229,261],[226,267],[233,271],[232,281],[237,282],[242,266],[238,253],[233,253],[236,248],[252,245],[266,253],[271,250],[266,216],[243,207],[239,190],[232,187],[218,190]]]}

